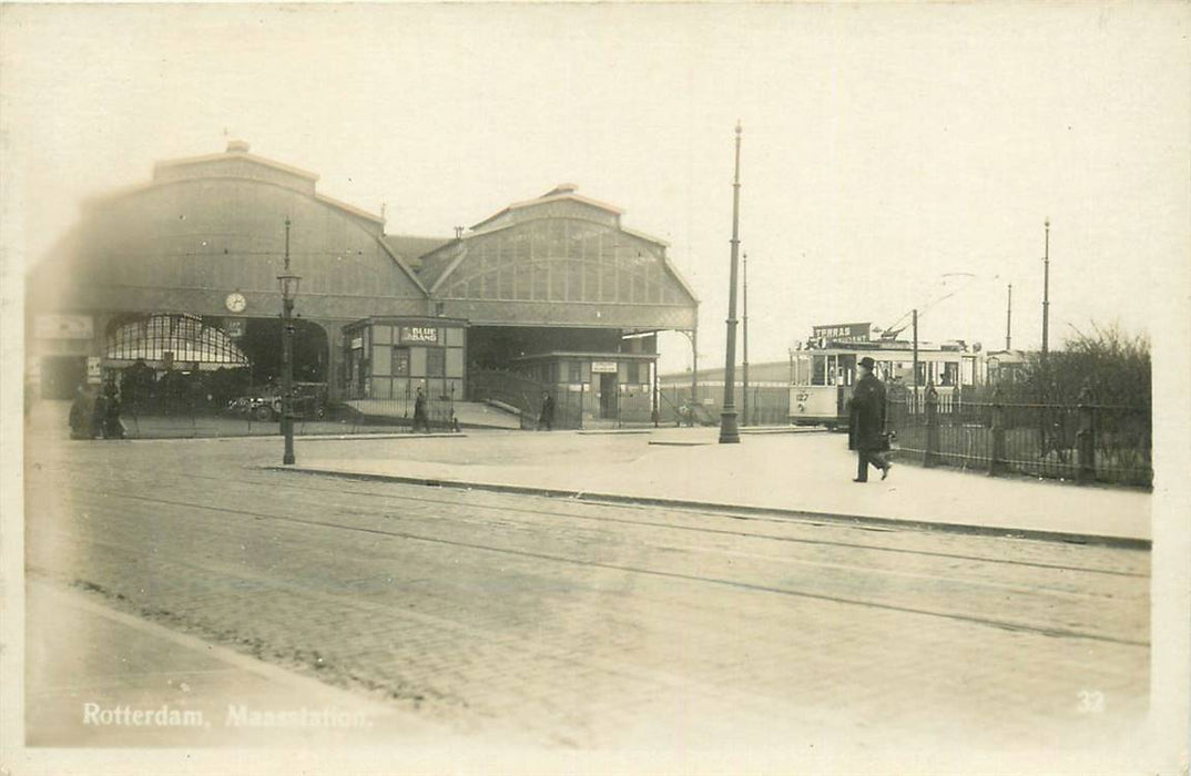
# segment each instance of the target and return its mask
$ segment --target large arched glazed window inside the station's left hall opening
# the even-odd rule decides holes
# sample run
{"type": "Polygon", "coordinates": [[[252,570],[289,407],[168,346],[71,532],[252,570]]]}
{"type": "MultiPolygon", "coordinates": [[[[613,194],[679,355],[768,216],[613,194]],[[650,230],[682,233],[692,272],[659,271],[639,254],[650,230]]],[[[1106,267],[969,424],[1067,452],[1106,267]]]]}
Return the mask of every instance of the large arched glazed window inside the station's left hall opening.
{"type": "Polygon", "coordinates": [[[198,364],[199,369],[248,367],[248,356],[220,328],[198,315],[158,314],[121,324],[107,336],[111,365],[143,359],[164,368],[167,362],[198,364]]]}

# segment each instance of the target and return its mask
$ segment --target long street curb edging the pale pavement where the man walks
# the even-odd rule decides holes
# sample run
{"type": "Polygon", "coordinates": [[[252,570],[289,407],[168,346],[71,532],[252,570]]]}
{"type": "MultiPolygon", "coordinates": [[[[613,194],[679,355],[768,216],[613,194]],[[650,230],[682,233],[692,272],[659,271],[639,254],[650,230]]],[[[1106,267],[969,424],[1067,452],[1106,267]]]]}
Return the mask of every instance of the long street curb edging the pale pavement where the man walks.
{"type": "Polygon", "coordinates": [[[342,471],[336,469],[314,469],[310,467],[283,467],[268,464],[262,467],[274,471],[306,474],[342,480],[363,480],[373,482],[398,482],[401,484],[419,484],[436,488],[455,488],[460,490],[487,490],[492,493],[512,493],[519,495],[538,495],[594,503],[631,503],[654,507],[678,507],[685,509],[706,509],[747,515],[767,515],[778,518],[803,518],[837,522],[844,525],[872,525],[890,528],[909,528],[912,531],[939,531],[968,536],[1000,537],[1011,539],[1031,539],[1039,542],[1064,542],[1068,544],[1089,544],[1121,550],[1151,550],[1149,539],[1134,537],[1097,536],[1090,533],[1065,533],[1061,531],[1039,531],[1033,528],[1010,528],[985,525],[967,525],[962,522],[931,522],[929,520],[910,520],[902,518],[874,518],[860,514],[840,514],[835,512],[811,512],[807,509],[781,509],[778,507],[755,507],[747,505],[718,503],[715,501],[692,501],[684,499],[659,499],[653,496],[630,496],[615,493],[591,493],[563,488],[543,488],[536,486],[503,484],[495,482],[466,482],[462,480],[441,480],[435,477],[411,477],[395,474],[373,474],[361,471],[342,471]]]}

